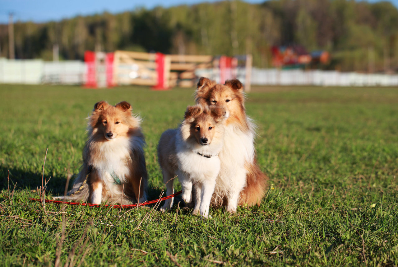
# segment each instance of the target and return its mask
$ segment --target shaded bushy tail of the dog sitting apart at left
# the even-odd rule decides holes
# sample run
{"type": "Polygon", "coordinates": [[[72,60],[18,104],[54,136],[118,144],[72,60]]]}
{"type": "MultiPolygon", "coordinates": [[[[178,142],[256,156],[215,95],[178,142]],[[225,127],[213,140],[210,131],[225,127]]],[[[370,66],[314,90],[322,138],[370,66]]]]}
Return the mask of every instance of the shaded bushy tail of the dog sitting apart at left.
{"type": "Polygon", "coordinates": [[[53,199],[64,201],[87,201],[89,190],[87,178],[89,171],[87,167],[83,167],[76,179],[73,181],[73,187],[68,191],[66,196],[55,196],[53,199]]]}

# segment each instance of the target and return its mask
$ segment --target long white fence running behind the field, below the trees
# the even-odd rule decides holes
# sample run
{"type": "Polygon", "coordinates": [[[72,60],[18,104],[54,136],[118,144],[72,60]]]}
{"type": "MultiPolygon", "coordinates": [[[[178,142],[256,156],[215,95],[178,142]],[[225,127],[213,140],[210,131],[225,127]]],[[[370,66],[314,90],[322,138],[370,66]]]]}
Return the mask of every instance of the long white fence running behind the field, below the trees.
{"type": "MultiPolygon", "coordinates": [[[[0,58],[0,83],[18,84],[83,84],[87,66],[82,61],[43,61],[41,59],[8,60],[0,58]]],[[[244,82],[244,69],[238,69],[244,82]]],[[[198,76],[219,79],[214,69],[201,70],[198,76]]],[[[342,73],[338,71],[303,71],[252,69],[252,84],[315,86],[398,86],[398,75],[342,73]]]]}

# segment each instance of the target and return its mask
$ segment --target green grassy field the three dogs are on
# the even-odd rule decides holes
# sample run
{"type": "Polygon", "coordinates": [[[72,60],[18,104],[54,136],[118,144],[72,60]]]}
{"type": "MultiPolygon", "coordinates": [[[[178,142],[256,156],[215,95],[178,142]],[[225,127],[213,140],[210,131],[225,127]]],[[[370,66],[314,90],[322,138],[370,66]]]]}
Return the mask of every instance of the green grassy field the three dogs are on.
{"type": "Polygon", "coordinates": [[[0,98],[1,266],[398,265],[398,89],[253,88],[246,108],[269,191],[259,207],[211,209],[211,220],[181,208],[44,210],[29,200],[47,148],[47,198],[78,173],[85,118],[99,100],[126,100],[142,116],[157,198],[156,145],[193,89],[2,84],[0,98]]]}

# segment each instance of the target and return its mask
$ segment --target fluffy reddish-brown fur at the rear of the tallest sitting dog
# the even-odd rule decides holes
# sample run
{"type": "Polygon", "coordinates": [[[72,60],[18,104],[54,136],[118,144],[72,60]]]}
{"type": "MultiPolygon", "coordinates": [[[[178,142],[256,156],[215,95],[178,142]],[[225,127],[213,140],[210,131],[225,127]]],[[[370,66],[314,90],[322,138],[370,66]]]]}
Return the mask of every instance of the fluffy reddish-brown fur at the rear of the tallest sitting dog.
{"type": "Polygon", "coordinates": [[[248,204],[248,206],[259,205],[265,195],[268,177],[260,170],[256,162],[251,163],[247,169],[246,186],[240,192],[238,204],[248,204]]]}

